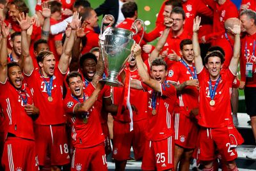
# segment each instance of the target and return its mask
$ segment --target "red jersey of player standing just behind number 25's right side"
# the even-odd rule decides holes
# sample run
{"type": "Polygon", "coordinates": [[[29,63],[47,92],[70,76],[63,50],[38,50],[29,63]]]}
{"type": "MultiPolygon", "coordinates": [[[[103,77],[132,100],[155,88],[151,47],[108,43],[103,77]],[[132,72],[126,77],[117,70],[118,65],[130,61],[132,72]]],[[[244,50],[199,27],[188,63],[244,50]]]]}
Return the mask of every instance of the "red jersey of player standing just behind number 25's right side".
{"type": "MultiPolygon", "coordinates": [[[[188,65],[191,73],[188,68],[181,62],[173,64],[172,68],[168,71],[168,78],[166,80],[171,80],[177,84],[182,84],[186,80],[193,80],[196,78],[195,66],[188,65]]],[[[183,114],[189,117],[189,112],[193,108],[198,108],[198,96],[199,91],[194,86],[187,86],[182,90],[182,93],[179,94],[177,103],[179,105],[179,110],[182,110],[183,114]]]]}

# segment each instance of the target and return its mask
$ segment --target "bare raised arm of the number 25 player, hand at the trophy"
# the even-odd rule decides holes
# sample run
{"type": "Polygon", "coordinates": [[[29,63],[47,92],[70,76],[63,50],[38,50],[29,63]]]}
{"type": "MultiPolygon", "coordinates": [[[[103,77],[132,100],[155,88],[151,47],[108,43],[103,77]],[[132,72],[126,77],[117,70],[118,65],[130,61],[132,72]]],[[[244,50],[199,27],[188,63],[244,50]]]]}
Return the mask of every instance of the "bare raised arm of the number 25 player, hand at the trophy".
{"type": "Polygon", "coordinates": [[[132,52],[136,58],[136,64],[138,67],[138,71],[141,77],[142,82],[147,84],[149,87],[154,89],[157,92],[161,92],[161,84],[156,80],[152,79],[150,75],[148,75],[147,70],[144,68],[144,63],[141,58],[141,47],[140,45],[136,44],[132,46],[132,52]]]}

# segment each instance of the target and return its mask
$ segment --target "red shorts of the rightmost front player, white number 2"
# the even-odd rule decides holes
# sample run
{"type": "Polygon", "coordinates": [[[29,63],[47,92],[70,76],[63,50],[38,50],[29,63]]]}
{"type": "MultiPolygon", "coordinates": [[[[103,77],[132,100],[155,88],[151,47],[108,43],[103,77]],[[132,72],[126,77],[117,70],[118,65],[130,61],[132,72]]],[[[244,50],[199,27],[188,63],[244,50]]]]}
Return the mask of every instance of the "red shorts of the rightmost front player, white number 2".
{"type": "MultiPolygon", "coordinates": [[[[236,128],[234,128],[236,129],[236,128]]],[[[241,142],[236,130],[233,132],[228,127],[200,128],[198,135],[197,158],[199,161],[211,161],[218,151],[224,161],[233,161],[237,158],[236,147],[241,142]]]]}

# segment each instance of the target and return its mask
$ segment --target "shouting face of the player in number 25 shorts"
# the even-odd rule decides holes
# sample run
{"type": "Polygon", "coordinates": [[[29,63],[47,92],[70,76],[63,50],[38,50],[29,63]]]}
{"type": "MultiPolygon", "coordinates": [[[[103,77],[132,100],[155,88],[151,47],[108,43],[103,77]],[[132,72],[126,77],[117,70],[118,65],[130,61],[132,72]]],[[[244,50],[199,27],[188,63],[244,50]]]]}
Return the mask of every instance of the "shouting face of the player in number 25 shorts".
{"type": "Polygon", "coordinates": [[[165,70],[164,65],[151,66],[150,73],[151,77],[157,80],[159,83],[163,83],[167,76],[167,71],[165,70]]]}

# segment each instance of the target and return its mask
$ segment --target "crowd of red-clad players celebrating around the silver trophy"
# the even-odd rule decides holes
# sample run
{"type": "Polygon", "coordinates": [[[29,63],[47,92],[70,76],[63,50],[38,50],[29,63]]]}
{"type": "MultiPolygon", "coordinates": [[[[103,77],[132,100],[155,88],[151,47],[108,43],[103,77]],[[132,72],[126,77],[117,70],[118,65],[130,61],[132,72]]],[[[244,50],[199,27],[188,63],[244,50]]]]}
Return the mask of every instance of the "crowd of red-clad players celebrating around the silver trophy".
{"type": "Polygon", "coordinates": [[[150,33],[134,1],[118,2],[115,27],[138,29],[124,87],[99,82],[97,15],[116,2],[38,1],[29,17],[24,1],[0,1],[1,169],[108,170],[112,152],[125,170],[132,147],[142,170],[189,170],[192,158],[238,170],[237,88],[256,137],[255,1],[166,0],[150,33]]]}

